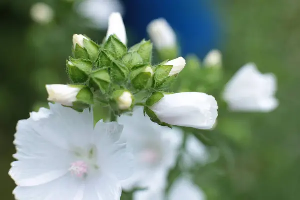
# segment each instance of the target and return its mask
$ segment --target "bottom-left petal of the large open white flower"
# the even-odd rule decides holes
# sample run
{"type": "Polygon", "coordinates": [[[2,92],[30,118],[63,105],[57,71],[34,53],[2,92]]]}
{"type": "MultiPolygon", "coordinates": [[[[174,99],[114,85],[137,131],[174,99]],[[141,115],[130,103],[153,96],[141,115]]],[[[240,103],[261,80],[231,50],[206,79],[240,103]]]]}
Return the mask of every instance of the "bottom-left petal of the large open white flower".
{"type": "Polygon", "coordinates": [[[38,186],[17,186],[13,191],[19,200],[82,200],[83,193],[84,182],[70,174],[38,186]]]}

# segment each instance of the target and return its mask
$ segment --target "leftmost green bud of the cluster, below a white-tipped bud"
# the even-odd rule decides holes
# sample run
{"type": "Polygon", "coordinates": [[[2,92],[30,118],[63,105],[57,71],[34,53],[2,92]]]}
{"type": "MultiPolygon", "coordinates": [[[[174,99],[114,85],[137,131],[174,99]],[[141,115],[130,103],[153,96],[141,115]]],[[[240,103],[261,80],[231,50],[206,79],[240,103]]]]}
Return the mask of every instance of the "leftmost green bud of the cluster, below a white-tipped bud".
{"type": "Polygon", "coordinates": [[[88,74],[92,70],[92,62],[85,59],[70,59],[66,61],[69,78],[73,83],[84,83],[88,80],[88,74]]]}

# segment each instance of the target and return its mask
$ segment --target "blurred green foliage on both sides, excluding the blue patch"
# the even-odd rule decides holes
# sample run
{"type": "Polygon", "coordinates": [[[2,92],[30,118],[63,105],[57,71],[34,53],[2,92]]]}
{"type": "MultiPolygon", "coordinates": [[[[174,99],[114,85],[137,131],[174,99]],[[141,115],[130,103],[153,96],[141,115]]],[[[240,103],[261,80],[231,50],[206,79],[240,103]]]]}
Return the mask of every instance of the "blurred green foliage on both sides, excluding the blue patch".
{"type": "MultiPolygon", "coordinates": [[[[67,83],[64,64],[74,33],[95,41],[104,35],[86,28],[72,3],[43,1],[55,10],[48,25],[30,19],[36,0],[0,1],[0,199],[13,199],[7,172],[17,121],[46,104],[45,84],[67,83]]],[[[196,182],[208,199],[299,199],[300,2],[215,3],[225,30],[225,80],[253,61],[260,71],[276,74],[280,106],[265,114],[220,112],[216,130],[205,132],[208,143],[219,148],[220,159],[199,168],[196,182]]]]}

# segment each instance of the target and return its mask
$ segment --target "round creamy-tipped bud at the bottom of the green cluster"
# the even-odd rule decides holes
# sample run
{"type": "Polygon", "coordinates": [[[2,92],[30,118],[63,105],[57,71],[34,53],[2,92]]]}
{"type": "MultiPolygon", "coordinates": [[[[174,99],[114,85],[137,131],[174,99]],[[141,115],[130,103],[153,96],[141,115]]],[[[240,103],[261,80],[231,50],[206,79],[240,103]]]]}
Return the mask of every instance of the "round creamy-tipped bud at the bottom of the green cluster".
{"type": "Polygon", "coordinates": [[[112,94],[113,103],[111,103],[114,110],[128,110],[133,103],[133,96],[129,91],[116,90],[112,94]]]}

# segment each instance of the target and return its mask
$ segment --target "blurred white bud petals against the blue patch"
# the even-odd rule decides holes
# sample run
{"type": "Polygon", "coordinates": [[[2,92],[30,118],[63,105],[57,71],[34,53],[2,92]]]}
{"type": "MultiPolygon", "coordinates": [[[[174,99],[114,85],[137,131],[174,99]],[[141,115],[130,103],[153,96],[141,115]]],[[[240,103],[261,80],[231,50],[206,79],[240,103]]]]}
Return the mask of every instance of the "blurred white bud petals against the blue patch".
{"type": "Polygon", "coordinates": [[[147,31],[158,50],[176,47],[176,34],[165,19],[159,18],[153,20],[148,25],[147,31]]]}

